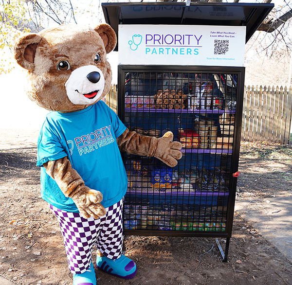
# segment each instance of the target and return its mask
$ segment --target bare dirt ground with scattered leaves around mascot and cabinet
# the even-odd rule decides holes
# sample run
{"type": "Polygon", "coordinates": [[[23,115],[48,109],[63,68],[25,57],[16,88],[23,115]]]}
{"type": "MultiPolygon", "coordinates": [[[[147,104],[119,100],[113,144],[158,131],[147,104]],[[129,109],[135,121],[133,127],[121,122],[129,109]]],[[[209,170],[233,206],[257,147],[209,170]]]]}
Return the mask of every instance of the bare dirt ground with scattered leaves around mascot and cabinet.
{"type": "MultiPolygon", "coordinates": [[[[57,221],[40,198],[37,132],[0,134],[0,276],[18,285],[71,285],[57,221]]],[[[291,145],[243,143],[239,171],[237,199],[292,196],[291,145]]],[[[292,264],[237,214],[227,263],[214,238],[126,236],[124,249],[137,263],[135,278],[96,270],[97,284],[292,284],[292,264]]]]}

